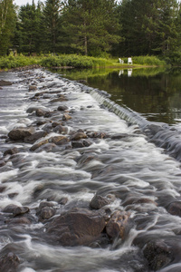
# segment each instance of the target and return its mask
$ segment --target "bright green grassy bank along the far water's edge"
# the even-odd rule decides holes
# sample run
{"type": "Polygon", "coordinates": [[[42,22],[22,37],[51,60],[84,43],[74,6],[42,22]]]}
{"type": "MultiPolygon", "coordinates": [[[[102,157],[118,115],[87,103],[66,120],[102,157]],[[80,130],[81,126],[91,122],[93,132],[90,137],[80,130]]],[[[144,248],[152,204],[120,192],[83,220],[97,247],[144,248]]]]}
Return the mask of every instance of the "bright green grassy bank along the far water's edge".
{"type": "MultiPolygon", "coordinates": [[[[73,68],[96,68],[96,67],[122,67],[127,66],[128,58],[122,58],[124,64],[119,64],[119,59],[95,58],[89,56],[81,56],[76,54],[48,55],[27,57],[24,55],[6,56],[0,58],[0,69],[11,69],[27,65],[41,65],[43,67],[73,67],[73,68]]],[[[160,61],[156,56],[138,56],[133,57],[133,65],[166,65],[164,61],[160,61]]]]}

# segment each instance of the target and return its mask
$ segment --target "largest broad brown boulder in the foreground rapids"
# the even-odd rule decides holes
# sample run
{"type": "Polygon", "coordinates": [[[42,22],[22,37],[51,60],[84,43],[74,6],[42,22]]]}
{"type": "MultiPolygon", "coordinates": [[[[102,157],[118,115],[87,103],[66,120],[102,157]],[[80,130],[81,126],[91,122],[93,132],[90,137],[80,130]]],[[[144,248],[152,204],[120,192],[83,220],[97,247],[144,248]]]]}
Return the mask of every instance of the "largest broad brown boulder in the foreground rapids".
{"type": "Polygon", "coordinates": [[[105,226],[102,213],[89,209],[72,209],[53,219],[46,233],[51,241],[65,247],[90,246],[101,239],[105,226]]]}

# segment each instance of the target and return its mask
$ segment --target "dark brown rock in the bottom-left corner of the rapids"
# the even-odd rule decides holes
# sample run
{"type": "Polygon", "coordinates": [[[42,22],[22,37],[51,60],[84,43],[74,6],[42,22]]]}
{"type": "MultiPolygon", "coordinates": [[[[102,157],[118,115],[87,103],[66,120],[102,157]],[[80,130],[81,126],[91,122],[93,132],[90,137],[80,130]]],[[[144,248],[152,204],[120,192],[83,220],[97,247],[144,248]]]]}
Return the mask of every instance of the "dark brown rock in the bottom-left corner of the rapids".
{"type": "Polygon", "coordinates": [[[20,260],[13,252],[9,252],[5,254],[5,256],[0,257],[1,272],[16,272],[19,264],[20,260]]]}

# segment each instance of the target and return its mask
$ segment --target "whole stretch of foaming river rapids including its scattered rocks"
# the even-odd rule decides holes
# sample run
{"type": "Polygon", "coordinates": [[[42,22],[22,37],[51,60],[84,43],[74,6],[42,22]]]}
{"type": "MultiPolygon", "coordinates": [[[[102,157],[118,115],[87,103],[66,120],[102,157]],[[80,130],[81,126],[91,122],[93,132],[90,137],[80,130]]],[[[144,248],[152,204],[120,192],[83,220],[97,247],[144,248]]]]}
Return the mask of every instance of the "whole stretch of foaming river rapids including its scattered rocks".
{"type": "Polygon", "coordinates": [[[1,80],[0,271],[181,271],[179,130],[43,69],[1,80]]]}

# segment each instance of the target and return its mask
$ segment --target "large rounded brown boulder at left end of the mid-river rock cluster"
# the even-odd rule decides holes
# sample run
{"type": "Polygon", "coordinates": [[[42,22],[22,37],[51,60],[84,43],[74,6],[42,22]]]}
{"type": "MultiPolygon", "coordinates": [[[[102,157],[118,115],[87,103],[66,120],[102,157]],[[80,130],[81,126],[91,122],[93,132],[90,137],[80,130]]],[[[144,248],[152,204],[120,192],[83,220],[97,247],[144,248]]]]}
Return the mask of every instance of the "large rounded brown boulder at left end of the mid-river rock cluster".
{"type": "Polygon", "coordinates": [[[33,127],[14,128],[12,131],[9,131],[8,137],[14,141],[21,141],[24,140],[25,137],[31,136],[34,133],[34,131],[35,130],[33,127]]]}

